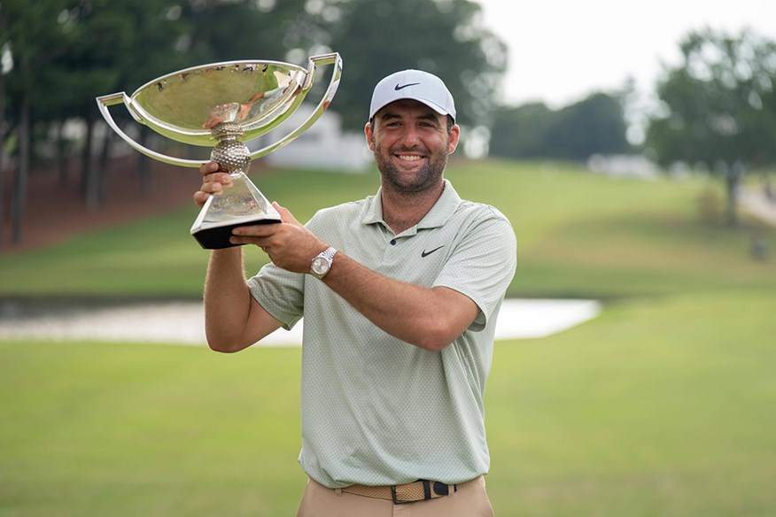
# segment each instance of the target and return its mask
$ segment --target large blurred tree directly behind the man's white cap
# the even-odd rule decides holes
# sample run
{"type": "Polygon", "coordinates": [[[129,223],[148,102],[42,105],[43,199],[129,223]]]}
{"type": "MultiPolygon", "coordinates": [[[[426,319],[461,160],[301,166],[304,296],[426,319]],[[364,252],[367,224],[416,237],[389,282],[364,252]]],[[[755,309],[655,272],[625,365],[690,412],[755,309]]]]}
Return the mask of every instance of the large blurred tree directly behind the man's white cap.
{"type": "MultiPolygon", "coordinates": [[[[312,3],[308,3],[312,4],[312,3]]],[[[344,72],[332,109],[361,130],[369,98],[384,76],[418,68],[441,77],[455,98],[458,121],[490,125],[507,50],[469,0],[328,0],[319,18],[331,33],[344,72]],[[328,20],[328,21],[327,21],[328,20]]]]}

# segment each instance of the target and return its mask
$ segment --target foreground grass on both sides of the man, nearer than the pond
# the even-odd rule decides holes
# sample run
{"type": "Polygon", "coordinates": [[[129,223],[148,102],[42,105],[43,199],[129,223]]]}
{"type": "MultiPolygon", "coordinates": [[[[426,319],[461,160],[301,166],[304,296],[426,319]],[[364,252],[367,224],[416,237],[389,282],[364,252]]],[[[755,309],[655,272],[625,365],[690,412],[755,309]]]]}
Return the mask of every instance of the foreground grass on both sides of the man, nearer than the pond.
{"type": "MultiPolygon", "coordinates": [[[[774,311],[768,293],[630,300],[497,343],[497,514],[772,514],[774,311]]],[[[0,343],[0,513],[294,514],[299,354],[0,343]]]]}

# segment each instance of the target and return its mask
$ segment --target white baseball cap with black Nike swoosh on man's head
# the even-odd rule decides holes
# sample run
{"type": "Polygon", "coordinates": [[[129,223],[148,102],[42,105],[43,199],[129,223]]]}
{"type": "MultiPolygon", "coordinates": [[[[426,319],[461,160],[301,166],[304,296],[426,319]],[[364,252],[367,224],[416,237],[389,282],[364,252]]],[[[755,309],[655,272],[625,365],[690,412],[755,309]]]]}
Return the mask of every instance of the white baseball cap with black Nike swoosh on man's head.
{"type": "Polygon", "coordinates": [[[436,75],[420,70],[392,73],[378,82],[369,105],[369,119],[384,106],[401,99],[421,102],[440,115],[450,115],[455,120],[455,103],[445,83],[436,75]]]}

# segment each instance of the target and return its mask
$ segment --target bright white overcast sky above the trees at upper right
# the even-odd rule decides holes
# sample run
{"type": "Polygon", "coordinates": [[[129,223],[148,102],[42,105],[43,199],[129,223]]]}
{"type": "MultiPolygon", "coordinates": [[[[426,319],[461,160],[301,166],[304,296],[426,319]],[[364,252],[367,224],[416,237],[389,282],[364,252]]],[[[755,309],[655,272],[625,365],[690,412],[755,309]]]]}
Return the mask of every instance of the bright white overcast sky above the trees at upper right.
{"type": "Polygon", "coordinates": [[[560,108],[594,91],[654,90],[661,63],[679,62],[679,41],[711,27],[749,27],[776,40],[774,0],[477,0],[486,27],[507,43],[506,104],[560,108]]]}

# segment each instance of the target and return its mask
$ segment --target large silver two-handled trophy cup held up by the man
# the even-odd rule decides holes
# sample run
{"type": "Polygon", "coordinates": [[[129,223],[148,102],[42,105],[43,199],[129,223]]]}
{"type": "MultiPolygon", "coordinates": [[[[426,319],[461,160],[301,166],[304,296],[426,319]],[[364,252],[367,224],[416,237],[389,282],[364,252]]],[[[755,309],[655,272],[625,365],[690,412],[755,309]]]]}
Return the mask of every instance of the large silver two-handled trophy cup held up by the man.
{"type": "Polygon", "coordinates": [[[318,120],[337,92],[342,58],[314,56],[307,70],[276,61],[229,61],[196,66],[146,83],[131,97],[124,92],[97,97],[108,125],[129,145],[159,161],[199,167],[201,160],[174,158],[150,150],[124,133],[108,106],[124,103],[137,122],[181,143],[213,147],[210,159],[232,177],[232,184],[211,195],[191,235],[208,250],[228,248],[232,228],[280,221],[280,214],[248,176],[251,161],[291,143],[318,120]],[[275,143],[251,152],[244,144],[288,119],[313,87],[317,66],[333,65],[328,89],[304,122],[275,143]]]}

